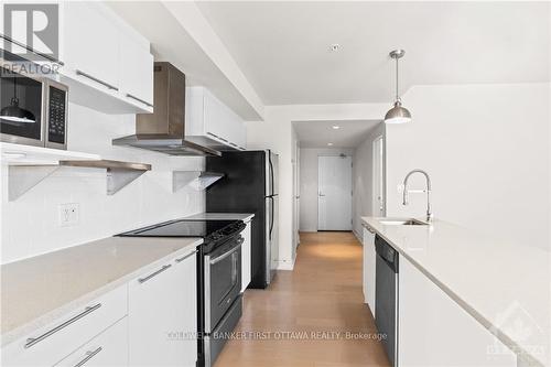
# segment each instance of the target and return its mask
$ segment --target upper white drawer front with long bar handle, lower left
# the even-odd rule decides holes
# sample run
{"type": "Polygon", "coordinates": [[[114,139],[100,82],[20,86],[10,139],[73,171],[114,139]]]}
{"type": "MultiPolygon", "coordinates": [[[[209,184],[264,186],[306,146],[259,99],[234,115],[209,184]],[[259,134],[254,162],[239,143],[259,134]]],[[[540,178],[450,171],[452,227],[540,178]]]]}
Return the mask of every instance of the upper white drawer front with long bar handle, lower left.
{"type": "Polygon", "coordinates": [[[2,348],[2,366],[53,366],[128,313],[127,285],[2,348]]]}

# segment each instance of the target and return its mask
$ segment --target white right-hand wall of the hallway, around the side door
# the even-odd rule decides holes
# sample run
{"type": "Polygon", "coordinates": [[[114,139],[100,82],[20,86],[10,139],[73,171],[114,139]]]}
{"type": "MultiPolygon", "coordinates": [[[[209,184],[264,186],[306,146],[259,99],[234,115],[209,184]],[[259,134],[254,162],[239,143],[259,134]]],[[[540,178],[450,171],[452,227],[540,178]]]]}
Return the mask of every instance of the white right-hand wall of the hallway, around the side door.
{"type": "Polygon", "coordinates": [[[354,150],[353,230],[361,238],[361,217],[372,215],[374,199],[374,140],[385,134],[385,125],[377,126],[354,150]]]}

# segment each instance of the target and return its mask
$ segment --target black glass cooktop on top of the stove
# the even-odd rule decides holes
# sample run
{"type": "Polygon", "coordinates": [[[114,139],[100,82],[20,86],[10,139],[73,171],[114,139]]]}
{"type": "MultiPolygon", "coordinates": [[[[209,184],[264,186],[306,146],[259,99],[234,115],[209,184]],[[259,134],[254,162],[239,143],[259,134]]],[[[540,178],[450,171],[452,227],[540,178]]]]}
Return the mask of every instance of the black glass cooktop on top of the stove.
{"type": "Polygon", "coordinates": [[[160,223],[154,226],[130,230],[123,237],[207,237],[226,228],[236,220],[190,220],[180,219],[160,223]]]}

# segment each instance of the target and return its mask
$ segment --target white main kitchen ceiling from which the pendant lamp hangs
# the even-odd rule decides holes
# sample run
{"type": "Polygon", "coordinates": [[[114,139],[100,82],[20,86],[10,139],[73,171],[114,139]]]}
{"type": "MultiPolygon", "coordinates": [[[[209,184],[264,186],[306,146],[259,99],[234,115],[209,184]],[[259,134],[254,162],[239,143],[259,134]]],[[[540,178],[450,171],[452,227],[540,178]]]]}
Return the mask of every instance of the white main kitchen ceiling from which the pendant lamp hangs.
{"type": "Polygon", "coordinates": [[[266,105],[390,101],[397,47],[407,52],[402,90],[549,80],[547,2],[197,6],[266,105]]]}

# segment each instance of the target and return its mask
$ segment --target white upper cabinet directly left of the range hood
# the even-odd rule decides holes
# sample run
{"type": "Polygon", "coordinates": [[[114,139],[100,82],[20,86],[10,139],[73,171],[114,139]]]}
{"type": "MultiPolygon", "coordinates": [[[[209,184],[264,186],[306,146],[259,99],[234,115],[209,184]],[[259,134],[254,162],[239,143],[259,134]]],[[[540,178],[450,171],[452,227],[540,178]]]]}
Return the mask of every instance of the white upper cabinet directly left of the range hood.
{"type": "Polygon", "coordinates": [[[101,2],[61,2],[60,18],[69,100],[106,114],[152,112],[149,41],[101,2]]]}

